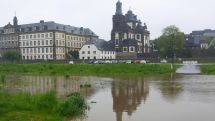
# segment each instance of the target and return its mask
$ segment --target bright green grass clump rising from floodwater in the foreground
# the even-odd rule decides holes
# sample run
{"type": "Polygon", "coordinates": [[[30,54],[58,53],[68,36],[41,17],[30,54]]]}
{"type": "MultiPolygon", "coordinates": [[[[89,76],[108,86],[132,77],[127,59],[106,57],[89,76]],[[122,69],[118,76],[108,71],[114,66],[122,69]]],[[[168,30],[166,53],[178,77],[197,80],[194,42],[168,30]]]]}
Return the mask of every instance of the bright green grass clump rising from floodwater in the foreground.
{"type": "Polygon", "coordinates": [[[85,100],[79,93],[60,102],[55,92],[33,96],[0,92],[0,121],[65,121],[84,110],[85,100]]]}

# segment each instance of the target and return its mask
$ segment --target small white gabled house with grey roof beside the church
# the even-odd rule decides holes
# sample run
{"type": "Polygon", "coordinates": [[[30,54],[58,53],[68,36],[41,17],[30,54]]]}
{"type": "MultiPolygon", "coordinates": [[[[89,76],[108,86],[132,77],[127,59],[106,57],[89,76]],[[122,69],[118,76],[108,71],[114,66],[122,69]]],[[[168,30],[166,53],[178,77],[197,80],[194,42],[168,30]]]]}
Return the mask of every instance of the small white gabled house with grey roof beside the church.
{"type": "Polygon", "coordinates": [[[79,51],[80,59],[115,59],[116,53],[109,42],[102,39],[87,41],[79,51]]]}

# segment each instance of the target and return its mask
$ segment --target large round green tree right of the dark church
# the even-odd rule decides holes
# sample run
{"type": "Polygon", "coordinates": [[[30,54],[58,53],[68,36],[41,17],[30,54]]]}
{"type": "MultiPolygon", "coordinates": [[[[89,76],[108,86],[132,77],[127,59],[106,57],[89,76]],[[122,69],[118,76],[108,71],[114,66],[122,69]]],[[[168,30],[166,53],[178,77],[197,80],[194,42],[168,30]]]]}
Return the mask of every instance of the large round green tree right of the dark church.
{"type": "Polygon", "coordinates": [[[163,34],[155,39],[155,47],[160,52],[161,57],[172,57],[174,50],[177,57],[182,56],[185,35],[174,25],[163,29],[163,34]]]}

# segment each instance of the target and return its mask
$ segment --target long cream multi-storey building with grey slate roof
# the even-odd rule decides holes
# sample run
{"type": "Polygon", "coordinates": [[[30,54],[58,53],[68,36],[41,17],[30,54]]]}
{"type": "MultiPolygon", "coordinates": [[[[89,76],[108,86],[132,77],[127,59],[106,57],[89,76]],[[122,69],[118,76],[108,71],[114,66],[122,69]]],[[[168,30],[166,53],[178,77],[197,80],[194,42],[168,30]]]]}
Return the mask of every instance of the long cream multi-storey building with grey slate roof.
{"type": "Polygon", "coordinates": [[[0,32],[1,45],[7,45],[0,46],[0,49],[8,51],[9,47],[14,48],[21,53],[23,60],[64,60],[69,51],[79,51],[86,41],[98,38],[88,28],[53,21],[18,25],[16,17],[14,25],[9,23],[0,28],[0,32]]]}

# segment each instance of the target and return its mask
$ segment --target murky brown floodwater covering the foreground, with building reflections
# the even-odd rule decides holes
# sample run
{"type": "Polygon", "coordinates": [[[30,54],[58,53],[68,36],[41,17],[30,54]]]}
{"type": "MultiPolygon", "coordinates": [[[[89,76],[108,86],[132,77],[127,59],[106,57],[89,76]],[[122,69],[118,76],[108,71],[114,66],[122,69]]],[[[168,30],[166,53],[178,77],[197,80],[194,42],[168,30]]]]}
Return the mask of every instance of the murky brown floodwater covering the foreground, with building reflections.
{"type": "Polygon", "coordinates": [[[14,94],[55,90],[59,98],[80,92],[89,109],[74,121],[215,121],[215,76],[28,75],[6,76],[1,85],[14,94]]]}

